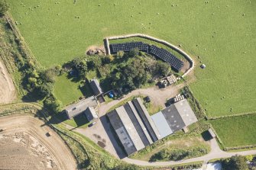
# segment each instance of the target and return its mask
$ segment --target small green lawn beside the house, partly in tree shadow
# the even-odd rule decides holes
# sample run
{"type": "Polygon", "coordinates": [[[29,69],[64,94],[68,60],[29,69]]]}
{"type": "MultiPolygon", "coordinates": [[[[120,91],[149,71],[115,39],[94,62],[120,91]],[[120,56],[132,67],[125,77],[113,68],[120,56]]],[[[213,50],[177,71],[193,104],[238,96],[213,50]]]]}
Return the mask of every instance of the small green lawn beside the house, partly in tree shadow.
{"type": "Polygon", "coordinates": [[[92,95],[92,90],[89,85],[82,85],[76,79],[68,79],[66,73],[57,77],[53,93],[63,103],[63,106],[71,104],[73,101],[78,101],[80,97],[89,97],[92,95]]]}

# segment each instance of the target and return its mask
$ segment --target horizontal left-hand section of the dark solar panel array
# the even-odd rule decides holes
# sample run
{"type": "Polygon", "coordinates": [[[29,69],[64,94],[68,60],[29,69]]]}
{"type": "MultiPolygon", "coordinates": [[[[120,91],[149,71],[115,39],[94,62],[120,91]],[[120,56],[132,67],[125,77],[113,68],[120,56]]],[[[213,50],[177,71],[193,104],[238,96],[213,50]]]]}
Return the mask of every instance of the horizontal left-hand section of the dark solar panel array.
{"type": "Polygon", "coordinates": [[[109,45],[111,53],[118,53],[118,51],[124,51],[125,53],[138,48],[140,51],[148,53],[147,43],[142,42],[130,42],[130,43],[112,43],[109,45]]]}

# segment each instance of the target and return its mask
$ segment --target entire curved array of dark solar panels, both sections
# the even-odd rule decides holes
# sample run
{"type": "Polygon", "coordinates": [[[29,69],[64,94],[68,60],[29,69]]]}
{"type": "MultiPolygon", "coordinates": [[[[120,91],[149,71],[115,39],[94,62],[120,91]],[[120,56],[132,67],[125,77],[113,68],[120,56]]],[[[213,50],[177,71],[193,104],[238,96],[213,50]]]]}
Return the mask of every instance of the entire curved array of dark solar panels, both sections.
{"type": "Polygon", "coordinates": [[[184,66],[183,61],[178,59],[172,53],[162,48],[156,47],[154,45],[148,45],[147,43],[142,42],[129,42],[129,43],[112,43],[109,45],[111,53],[118,53],[118,51],[124,51],[125,53],[138,48],[138,50],[145,53],[150,53],[152,56],[155,56],[159,59],[162,59],[164,62],[169,63],[173,69],[176,69],[180,72],[180,69],[184,66]]]}

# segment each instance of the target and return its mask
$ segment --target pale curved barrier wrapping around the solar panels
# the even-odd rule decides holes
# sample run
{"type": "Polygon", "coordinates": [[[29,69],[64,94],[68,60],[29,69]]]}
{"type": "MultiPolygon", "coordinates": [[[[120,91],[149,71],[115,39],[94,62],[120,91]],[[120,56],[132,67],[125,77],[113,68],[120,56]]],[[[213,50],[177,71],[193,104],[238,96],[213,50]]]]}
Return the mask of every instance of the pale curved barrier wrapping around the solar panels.
{"type": "Polygon", "coordinates": [[[121,36],[115,36],[115,37],[105,37],[105,46],[107,47],[107,49],[106,49],[107,54],[111,55],[110,48],[109,48],[109,40],[125,39],[125,38],[129,38],[129,37],[141,37],[141,38],[145,38],[148,40],[153,40],[157,43],[162,43],[165,46],[170,47],[171,49],[176,50],[178,53],[185,56],[185,58],[187,60],[189,60],[189,62],[190,62],[190,69],[187,69],[186,72],[184,72],[183,75],[181,75],[182,78],[184,78],[187,74],[189,74],[195,67],[195,62],[193,61],[192,57],[189,54],[187,54],[186,52],[184,52],[183,50],[181,50],[179,47],[174,46],[172,43],[169,43],[166,40],[160,40],[158,38],[151,37],[146,34],[128,34],[128,35],[121,35],[121,36]]]}

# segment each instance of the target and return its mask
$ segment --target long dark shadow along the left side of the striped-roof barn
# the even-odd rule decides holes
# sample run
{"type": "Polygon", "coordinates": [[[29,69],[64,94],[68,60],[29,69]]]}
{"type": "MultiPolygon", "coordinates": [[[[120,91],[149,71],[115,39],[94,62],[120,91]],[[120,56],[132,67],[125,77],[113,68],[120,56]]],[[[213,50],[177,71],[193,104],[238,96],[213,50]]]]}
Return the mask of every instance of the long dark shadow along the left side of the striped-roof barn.
{"type": "MultiPolygon", "coordinates": [[[[116,138],[115,138],[115,134],[112,131],[112,127],[111,127],[107,117],[104,115],[104,116],[100,117],[99,120],[101,121],[102,126],[104,127],[105,133],[107,133],[107,135],[109,136],[109,140],[111,141],[112,146],[114,146],[115,152],[117,153],[119,159],[124,159],[125,157],[127,157],[127,155],[123,151],[122,147],[118,145],[118,140],[116,140],[116,138]]],[[[119,143],[120,143],[120,141],[119,141],[119,143]]]]}

